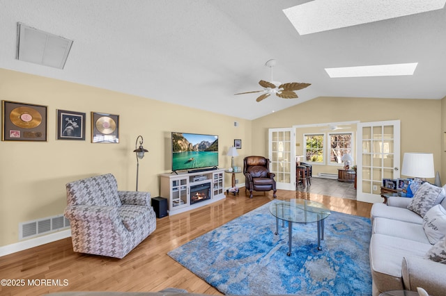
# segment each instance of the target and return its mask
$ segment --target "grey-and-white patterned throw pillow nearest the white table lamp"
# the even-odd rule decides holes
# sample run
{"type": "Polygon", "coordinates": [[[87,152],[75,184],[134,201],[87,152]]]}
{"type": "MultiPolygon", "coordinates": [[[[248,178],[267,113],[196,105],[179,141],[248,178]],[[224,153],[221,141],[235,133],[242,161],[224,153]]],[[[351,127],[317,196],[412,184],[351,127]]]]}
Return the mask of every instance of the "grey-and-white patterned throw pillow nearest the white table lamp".
{"type": "Polygon", "coordinates": [[[436,204],[440,204],[444,198],[445,190],[443,188],[424,182],[417,192],[415,192],[415,195],[407,208],[424,217],[427,211],[436,204]]]}

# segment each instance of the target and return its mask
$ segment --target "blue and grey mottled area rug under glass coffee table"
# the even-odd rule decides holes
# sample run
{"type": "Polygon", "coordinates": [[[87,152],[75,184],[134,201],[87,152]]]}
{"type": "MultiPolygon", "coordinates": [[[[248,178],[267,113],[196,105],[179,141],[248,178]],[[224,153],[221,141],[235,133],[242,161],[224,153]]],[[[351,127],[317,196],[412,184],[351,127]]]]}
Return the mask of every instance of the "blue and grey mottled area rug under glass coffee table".
{"type": "Polygon", "coordinates": [[[370,220],[332,212],[317,250],[316,223],[279,224],[270,203],[185,245],[169,256],[224,294],[371,295],[370,220]]]}

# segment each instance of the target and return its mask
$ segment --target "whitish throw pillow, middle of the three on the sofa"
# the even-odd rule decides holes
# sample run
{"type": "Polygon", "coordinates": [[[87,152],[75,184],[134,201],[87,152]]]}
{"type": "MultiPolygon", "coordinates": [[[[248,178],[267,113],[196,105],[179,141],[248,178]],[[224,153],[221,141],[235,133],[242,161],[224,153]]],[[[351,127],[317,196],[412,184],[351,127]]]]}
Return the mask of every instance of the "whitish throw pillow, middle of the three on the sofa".
{"type": "Polygon", "coordinates": [[[440,204],[433,206],[423,218],[423,229],[432,245],[446,235],[446,210],[440,204]]]}

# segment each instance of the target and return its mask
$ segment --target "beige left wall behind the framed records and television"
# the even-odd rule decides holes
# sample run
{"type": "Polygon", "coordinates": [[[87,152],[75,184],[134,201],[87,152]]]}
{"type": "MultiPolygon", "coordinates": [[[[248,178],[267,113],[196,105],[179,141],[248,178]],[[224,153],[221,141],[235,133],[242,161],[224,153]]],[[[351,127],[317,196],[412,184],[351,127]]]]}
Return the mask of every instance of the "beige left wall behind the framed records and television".
{"type": "Polygon", "coordinates": [[[153,197],[158,174],[171,172],[171,131],[219,135],[220,167],[231,166],[224,154],[234,139],[242,140],[236,165],[251,153],[252,123],[217,113],[6,69],[0,69],[0,99],[44,105],[48,113],[47,142],[0,142],[0,246],[18,241],[20,222],[63,213],[69,181],[111,172],[120,190],[134,190],[138,135],[149,151],[139,161],[138,187],[153,197]],[[85,141],[56,140],[57,109],[87,113],[85,141]],[[91,111],[119,115],[119,144],[91,143],[91,111]]]}

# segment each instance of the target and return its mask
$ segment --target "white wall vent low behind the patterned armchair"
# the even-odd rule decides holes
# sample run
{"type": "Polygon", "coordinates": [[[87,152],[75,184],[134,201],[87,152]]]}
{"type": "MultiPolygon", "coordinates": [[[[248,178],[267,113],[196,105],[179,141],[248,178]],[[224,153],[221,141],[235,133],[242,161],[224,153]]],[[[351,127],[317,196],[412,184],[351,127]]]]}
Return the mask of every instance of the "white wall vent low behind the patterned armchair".
{"type": "Polygon", "coordinates": [[[19,240],[56,232],[68,227],[70,227],[70,220],[63,215],[21,222],[19,223],[19,240]]]}

